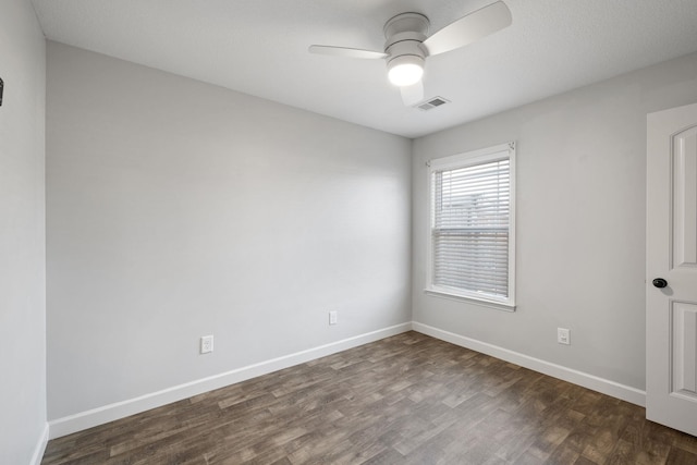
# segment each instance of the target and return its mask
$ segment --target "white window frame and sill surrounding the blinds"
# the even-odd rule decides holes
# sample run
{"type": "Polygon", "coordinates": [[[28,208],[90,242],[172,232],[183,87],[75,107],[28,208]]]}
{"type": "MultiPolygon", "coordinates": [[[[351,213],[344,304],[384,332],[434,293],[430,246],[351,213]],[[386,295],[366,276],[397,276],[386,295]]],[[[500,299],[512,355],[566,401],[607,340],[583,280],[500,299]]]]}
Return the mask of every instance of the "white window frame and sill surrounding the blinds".
{"type": "Polygon", "coordinates": [[[429,160],[428,167],[428,230],[426,253],[426,290],[430,295],[454,298],[497,308],[515,311],[515,142],[500,144],[478,150],[466,151],[450,157],[429,160]],[[433,173],[438,171],[468,168],[497,160],[509,159],[509,259],[508,259],[508,297],[481,295],[475,292],[457,290],[456,287],[433,284],[433,225],[435,225],[435,192],[433,173]]]}

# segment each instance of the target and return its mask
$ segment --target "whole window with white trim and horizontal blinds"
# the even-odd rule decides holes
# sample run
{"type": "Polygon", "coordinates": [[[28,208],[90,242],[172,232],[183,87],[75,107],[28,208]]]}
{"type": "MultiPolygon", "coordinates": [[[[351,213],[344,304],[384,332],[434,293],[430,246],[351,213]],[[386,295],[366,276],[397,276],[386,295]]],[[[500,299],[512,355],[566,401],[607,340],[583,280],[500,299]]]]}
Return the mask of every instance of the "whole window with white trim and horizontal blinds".
{"type": "Polygon", "coordinates": [[[513,143],[431,160],[427,292],[515,308],[513,143]]]}

